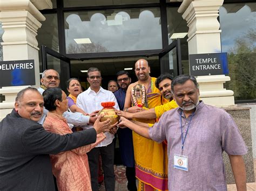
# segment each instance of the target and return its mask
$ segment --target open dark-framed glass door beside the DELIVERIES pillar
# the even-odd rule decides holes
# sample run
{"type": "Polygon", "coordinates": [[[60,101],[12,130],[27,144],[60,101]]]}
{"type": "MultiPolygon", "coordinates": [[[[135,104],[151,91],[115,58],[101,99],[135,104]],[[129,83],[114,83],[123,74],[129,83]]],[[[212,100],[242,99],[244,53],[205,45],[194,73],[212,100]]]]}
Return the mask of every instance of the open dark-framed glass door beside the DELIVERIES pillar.
{"type": "Polygon", "coordinates": [[[59,73],[60,88],[65,90],[65,82],[70,79],[70,59],[44,45],[41,46],[41,53],[43,71],[55,69],[59,73]]]}

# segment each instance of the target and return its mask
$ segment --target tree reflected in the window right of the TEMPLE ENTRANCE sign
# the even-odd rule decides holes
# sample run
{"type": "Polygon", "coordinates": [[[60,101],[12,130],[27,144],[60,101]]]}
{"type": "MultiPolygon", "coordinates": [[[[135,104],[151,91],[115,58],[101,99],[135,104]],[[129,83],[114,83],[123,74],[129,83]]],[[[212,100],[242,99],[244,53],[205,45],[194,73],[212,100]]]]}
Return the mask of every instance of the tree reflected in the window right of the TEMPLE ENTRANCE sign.
{"type": "Polygon", "coordinates": [[[244,36],[235,39],[228,51],[229,76],[227,89],[234,91],[235,100],[256,99],[256,30],[250,29],[244,36]]]}

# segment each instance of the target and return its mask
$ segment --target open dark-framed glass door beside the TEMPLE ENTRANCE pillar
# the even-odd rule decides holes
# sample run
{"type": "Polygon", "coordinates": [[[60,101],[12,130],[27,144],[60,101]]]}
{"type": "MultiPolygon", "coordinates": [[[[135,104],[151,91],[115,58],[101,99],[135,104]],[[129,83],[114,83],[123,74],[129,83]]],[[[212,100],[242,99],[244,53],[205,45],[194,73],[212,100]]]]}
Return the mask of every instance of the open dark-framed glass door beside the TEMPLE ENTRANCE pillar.
{"type": "Polygon", "coordinates": [[[176,39],[159,53],[161,74],[170,73],[173,77],[182,74],[180,39],[176,39]]]}

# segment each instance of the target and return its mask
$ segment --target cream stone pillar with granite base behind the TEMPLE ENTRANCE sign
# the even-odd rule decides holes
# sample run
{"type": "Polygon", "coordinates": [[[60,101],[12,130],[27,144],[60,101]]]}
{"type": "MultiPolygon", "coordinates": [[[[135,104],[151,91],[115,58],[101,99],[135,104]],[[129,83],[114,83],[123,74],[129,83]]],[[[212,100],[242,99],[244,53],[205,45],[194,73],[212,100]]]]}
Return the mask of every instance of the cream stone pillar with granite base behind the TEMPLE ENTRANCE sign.
{"type": "MultiPolygon", "coordinates": [[[[224,0],[183,0],[178,12],[183,13],[188,30],[188,53],[218,53],[221,52],[220,24],[217,17],[224,0]]],[[[234,105],[232,90],[226,90],[224,83],[230,81],[225,75],[197,76],[200,98],[205,103],[223,107],[232,115],[242,137],[248,146],[244,155],[247,182],[254,182],[252,136],[250,128],[250,109],[234,105]],[[231,107],[233,106],[233,107],[231,107]]],[[[233,173],[227,154],[224,153],[227,183],[234,183],[233,173]]]]}

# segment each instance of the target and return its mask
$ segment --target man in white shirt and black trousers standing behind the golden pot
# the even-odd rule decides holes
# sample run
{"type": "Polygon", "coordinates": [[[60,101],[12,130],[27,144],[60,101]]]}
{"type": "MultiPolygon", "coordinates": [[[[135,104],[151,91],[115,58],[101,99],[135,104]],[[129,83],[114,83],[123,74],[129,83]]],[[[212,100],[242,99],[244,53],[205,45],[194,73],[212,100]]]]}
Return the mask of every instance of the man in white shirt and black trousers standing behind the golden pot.
{"type": "MultiPolygon", "coordinates": [[[[100,87],[102,77],[98,68],[91,67],[87,71],[87,81],[90,83],[90,87],[79,94],[77,97],[77,106],[83,109],[87,113],[91,113],[95,110],[103,109],[100,103],[102,102],[115,102],[114,108],[119,109],[116,97],[114,94],[100,87]]],[[[86,129],[93,128],[89,125],[86,129]]],[[[102,157],[102,166],[104,171],[105,189],[107,191],[114,191],[115,177],[114,177],[114,133],[116,130],[105,132],[106,139],[97,145],[95,148],[87,153],[89,159],[90,173],[91,173],[91,185],[93,191],[98,191],[98,162],[99,154],[102,157]],[[111,132],[111,133],[110,133],[111,132]]]]}

